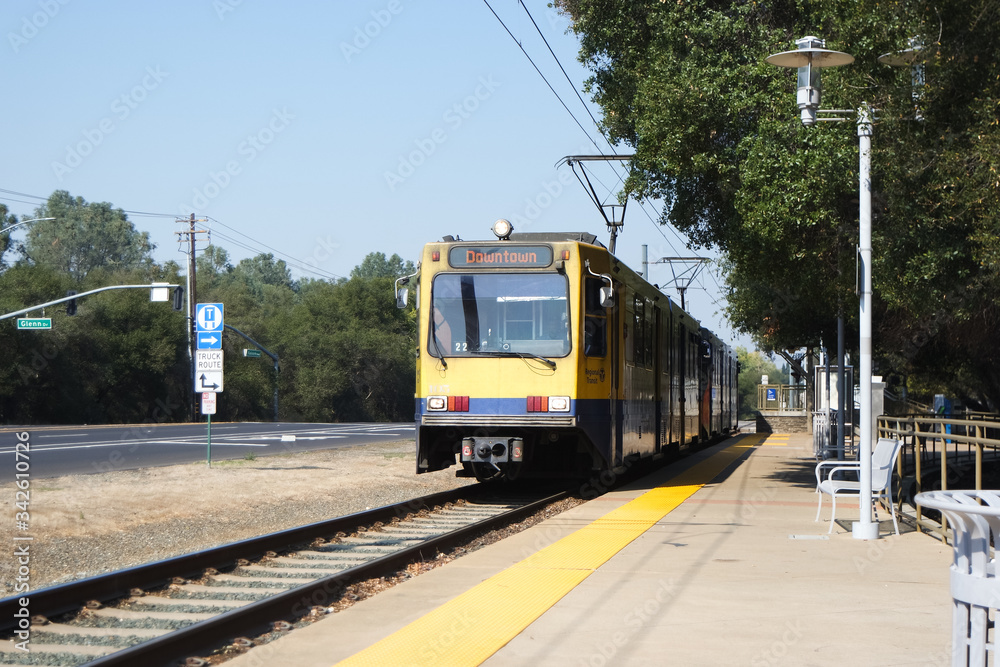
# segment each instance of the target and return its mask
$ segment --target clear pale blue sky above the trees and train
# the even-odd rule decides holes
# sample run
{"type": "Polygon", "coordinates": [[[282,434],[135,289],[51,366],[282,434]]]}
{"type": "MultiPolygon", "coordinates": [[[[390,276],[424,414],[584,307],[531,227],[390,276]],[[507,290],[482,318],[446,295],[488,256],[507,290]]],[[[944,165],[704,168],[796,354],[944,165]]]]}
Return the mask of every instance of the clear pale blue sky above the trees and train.
{"type": "MultiPolygon", "coordinates": [[[[38,201],[11,192],[63,189],[163,214],[129,217],[181,263],[173,216],[194,212],[233,263],[272,252],[296,277],[347,276],[374,251],[416,260],[446,234],[489,238],[500,217],[607,243],[555,166],[594,141],[613,150],[575,92],[577,39],[547,2],[525,3],[570,85],[524,7],[490,4],[583,129],[484,2],[8,0],[0,201],[26,219],[38,201]]],[[[618,175],[594,169],[613,198],[618,175]]],[[[651,261],[696,254],[654,223],[658,206],[629,204],[617,254],[636,270],[642,244],[651,261]]],[[[650,279],[669,283],[669,267],[650,279]]],[[[732,339],[721,283],[704,274],[686,301],[732,339]]]]}

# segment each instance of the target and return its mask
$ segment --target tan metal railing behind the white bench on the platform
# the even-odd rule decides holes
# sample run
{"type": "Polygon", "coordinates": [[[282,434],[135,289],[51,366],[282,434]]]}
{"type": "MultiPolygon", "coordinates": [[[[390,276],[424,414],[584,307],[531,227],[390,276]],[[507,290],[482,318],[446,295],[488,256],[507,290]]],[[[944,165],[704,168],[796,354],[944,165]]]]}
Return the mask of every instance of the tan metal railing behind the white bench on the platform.
{"type": "MultiPolygon", "coordinates": [[[[942,490],[954,486],[967,475],[971,468],[975,490],[983,488],[984,450],[992,450],[988,463],[1000,465],[1000,416],[976,414],[971,418],[947,417],[888,417],[878,418],[878,435],[899,438],[903,448],[897,459],[900,479],[912,474],[916,480],[916,493],[942,490]],[[907,450],[909,455],[907,456],[907,450]],[[933,474],[940,466],[940,481],[923,488],[925,471],[933,474]]],[[[967,485],[964,485],[968,488],[967,485]]],[[[902,501],[900,501],[901,503],[902,501]]],[[[942,516],[940,524],[923,516],[919,504],[917,508],[917,530],[926,530],[941,537],[950,538],[947,519],[942,516]]]]}

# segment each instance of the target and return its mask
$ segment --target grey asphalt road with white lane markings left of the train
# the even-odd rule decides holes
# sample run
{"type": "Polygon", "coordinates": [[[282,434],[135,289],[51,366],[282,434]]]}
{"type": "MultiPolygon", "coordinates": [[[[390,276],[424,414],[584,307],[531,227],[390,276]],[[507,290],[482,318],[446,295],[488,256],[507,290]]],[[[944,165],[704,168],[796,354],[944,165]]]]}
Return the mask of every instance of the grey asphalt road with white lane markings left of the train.
{"type": "MultiPolygon", "coordinates": [[[[212,424],[212,460],[269,456],[412,438],[413,423],[212,424]]],[[[28,467],[32,478],[205,461],[205,424],[5,427],[0,429],[0,482],[28,467]],[[29,434],[27,454],[15,451],[29,434]]]]}

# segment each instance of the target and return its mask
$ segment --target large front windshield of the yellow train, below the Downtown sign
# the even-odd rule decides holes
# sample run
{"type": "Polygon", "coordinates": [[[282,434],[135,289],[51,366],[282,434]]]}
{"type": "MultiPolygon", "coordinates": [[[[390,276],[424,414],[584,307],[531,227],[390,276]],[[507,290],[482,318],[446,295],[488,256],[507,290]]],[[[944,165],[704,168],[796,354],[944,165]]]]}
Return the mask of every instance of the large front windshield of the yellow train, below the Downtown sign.
{"type": "Polygon", "coordinates": [[[569,354],[569,284],[558,273],[441,273],[431,286],[435,356],[569,354]]]}

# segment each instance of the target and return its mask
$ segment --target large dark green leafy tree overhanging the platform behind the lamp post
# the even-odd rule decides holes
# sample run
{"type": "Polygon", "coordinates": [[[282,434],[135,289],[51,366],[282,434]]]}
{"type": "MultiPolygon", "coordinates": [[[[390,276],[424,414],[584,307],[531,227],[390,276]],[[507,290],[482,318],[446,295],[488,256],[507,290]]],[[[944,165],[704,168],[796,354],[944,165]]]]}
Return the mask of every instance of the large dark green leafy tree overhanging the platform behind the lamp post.
{"type": "MultiPolygon", "coordinates": [[[[787,349],[833,339],[839,312],[849,326],[856,317],[855,128],[803,128],[794,72],[764,62],[810,34],[855,57],[851,67],[823,71],[822,106],[867,101],[879,110],[876,343],[908,323],[928,340],[951,337],[962,356],[976,342],[958,338],[963,325],[995,321],[1000,77],[996,59],[981,54],[1000,38],[998,0],[557,5],[581,37],[603,129],[635,149],[626,193],[661,199],[662,222],[723,253],[727,314],[738,329],[766,349],[787,349]],[[877,63],[914,34],[928,56],[922,121],[914,120],[909,72],[877,63]],[[941,318],[933,332],[920,324],[942,310],[948,326],[941,318]]],[[[915,357],[891,351],[876,350],[881,372],[917,371],[915,357]]],[[[964,355],[963,367],[980,363],[981,351],[964,355]]],[[[967,389],[1000,398],[998,367],[973,370],[978,379],[967,389]]],[[[940,366],[931,373],[946,377],[940,366]]]]}

